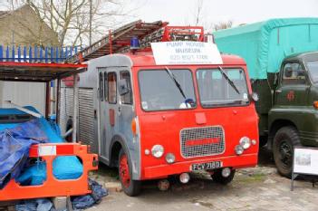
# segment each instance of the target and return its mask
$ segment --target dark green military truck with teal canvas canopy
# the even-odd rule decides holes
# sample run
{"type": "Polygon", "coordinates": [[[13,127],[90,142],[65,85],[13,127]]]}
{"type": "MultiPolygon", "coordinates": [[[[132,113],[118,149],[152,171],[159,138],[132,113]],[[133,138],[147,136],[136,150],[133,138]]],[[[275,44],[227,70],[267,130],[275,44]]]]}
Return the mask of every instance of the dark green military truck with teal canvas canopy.
{"type": "Polygon", "coordinates": [[[246,60],[259,96],[260,146],[291,177],[294,146],[318,147],[318,18],[271,19],[217,31],[222,53],[246,60]]]}

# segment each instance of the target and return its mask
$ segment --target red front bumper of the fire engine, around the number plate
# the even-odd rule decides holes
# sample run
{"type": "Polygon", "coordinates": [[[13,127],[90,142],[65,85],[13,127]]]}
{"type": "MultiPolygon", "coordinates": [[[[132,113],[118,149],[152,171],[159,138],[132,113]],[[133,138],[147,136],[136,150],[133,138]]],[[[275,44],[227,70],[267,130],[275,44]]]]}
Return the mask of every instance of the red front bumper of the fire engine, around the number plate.
{"type": "Polygon", "coordinates": [[[257,154],[246,154],[240,156],[228,156],[218,158],[198,158],[174,164],[165,164],[155,167],[144,168],[144,173],[141,179],[152,179],[159,177],[167,177],[169,175],[177,175],[183,172],[190,172],[192,164],[207,163],[212,161],[222,161],[223,168],[250,168],[257,164],[257,154]]]}

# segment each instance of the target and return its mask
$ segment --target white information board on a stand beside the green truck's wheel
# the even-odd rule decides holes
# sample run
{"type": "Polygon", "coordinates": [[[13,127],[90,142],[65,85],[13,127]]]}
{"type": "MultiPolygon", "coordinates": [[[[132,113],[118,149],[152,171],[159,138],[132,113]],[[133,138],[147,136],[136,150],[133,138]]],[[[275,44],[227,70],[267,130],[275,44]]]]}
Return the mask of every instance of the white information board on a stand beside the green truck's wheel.
{"type": "Polygon", "coordinates": [[[318,149],[294,148],[292,191],[294,190],[294,179],[300,174],[318,176],[318,149]]]}

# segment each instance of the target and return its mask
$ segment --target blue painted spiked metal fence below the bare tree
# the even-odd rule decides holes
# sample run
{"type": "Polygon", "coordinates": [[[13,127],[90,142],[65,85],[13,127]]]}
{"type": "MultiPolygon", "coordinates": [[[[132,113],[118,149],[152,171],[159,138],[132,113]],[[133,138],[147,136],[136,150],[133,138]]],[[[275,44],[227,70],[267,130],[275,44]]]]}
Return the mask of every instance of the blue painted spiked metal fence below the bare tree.
{"type": "Polygon", "coordinates": [[[0,62],[64,62],[78,53],[78,47],[39,47],[0,45],[0,62]]]}

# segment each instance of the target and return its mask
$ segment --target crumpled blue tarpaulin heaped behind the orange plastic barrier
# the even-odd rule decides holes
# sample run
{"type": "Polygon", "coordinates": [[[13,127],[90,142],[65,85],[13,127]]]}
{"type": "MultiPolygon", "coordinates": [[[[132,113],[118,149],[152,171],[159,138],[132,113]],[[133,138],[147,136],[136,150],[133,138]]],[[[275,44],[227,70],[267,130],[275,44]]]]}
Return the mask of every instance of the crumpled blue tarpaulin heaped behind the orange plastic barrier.
{"type": "MultiPolygon", "coordinates": [[[[32,107],[25,108],[36,111],[32,107]]],[[[3,114],[25,113],[16,109],[0,109],[0,115],[3,114]]],[[[34,118],[34,120],[24,123],[0,124],[0,186],[5,182],[3,181],[5,176],[10,175],[10,173],[11,178],[15,178],[17,182],[23,185],[40,185],[43,183],[46,179],[44,162],[35,162],[30,166],[24,165],[30,146],[39,142],[63,142],[59,131],[56,131],[52,124],[43,117],[40,119],[34,118]]],[[[55,158],[53,161],[53,175],[58,179],[81,177],[82,164],[78,158],[73,156],[55,158]]]]}

